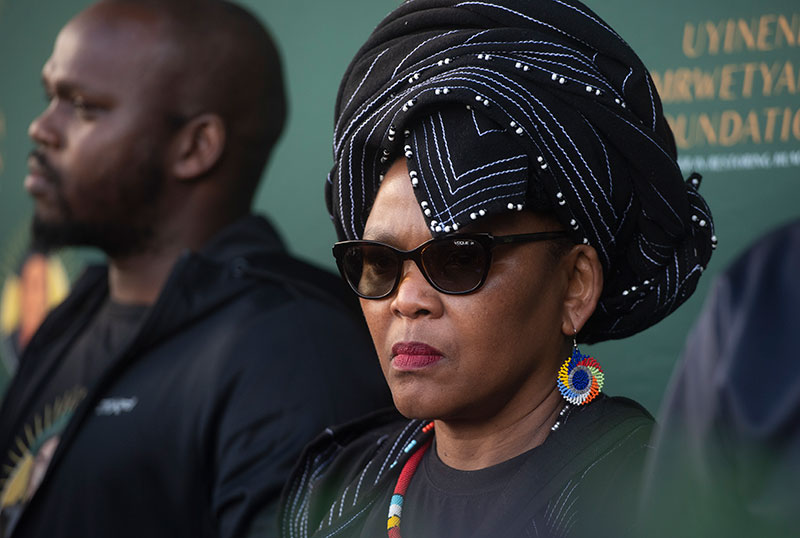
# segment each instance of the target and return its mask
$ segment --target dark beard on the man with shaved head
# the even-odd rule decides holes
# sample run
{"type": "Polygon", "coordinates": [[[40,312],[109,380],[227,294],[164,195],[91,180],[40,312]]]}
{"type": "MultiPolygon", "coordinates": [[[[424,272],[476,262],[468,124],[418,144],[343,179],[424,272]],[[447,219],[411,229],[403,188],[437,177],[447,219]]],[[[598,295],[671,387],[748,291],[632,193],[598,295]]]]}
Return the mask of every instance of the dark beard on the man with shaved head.
{"type": "Polygon", "coordinates": [[[53,182],[61,213],[58,220],[45,220],[34,214],[31,222],[32,250],[48,253],[62,247],[96,247],[110,258],[126,257],[147,250],[155,235],[155,223],[154,219],[144,217],[153,215],[163,186],[163,174],[154,160],[143,163],[134,172],[141,177],[142,185],[136,193],[122,193],[120,199],[125,206],[115,215],[116,220],[81,221],[75,218],[64,197],[61,174],[42,153],[34,150],[32,155],[53,182]],[[125,216],[133,218],[125,220],[125,216]]]}

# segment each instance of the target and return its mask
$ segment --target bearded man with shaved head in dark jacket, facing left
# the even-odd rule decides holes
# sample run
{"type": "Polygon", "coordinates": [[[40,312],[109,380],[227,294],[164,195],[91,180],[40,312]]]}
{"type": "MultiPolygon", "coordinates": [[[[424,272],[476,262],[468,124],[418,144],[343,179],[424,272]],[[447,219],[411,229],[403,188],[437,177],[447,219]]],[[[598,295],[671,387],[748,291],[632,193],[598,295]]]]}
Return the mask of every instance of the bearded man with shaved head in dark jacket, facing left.
{"type": "Polygon", "coordinates": [[[106,0],[42,79],[35,245],[96,246],[108,266],[6,394],[2,534],[276,534],[302,446],[388,400],[338,279],[249,214],[285,116],[268,34],[228,2],[106,0]]]}

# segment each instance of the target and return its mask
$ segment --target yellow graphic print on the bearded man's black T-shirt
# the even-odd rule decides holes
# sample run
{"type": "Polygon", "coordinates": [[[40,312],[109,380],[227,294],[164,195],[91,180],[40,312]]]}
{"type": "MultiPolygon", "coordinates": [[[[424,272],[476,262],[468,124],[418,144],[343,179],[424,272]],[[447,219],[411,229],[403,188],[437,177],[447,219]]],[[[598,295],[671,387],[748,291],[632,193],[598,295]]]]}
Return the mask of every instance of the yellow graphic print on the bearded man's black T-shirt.
{"type": "Polygon", "coordinates": [[[33,497],[58,447],[61,432],[85,396],[84,387],[75,387],[52,405],[45,405],[42,413],[33,417],[33,424],[25,425],[8,452],[12,465],[4,465],[0,471],[0,510],[25,504],[33,497]]]}

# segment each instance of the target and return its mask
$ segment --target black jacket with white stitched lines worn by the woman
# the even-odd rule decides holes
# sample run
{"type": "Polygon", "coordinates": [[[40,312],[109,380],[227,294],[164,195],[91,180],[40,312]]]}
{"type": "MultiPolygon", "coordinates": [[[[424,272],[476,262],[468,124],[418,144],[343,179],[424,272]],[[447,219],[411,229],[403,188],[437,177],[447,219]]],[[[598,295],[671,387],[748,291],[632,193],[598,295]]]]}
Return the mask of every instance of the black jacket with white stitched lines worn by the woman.
{"type": "MultiPolygon", "coordinates": [[[[385,525],[403,465],[432,435],[422,431],[426,422],[384,411],[326,430],[308,446],[286,484],[281,536],[385,536],[385,527],[366,524],[377,510],[385,525]]],[[[625,535],[652,426],[650,414],[626,398],[601,394],[571,409],[561,427],[524,456],[471,536],[625,535]],[[562,517],[550,517],[555,513],[562,517]]]]}

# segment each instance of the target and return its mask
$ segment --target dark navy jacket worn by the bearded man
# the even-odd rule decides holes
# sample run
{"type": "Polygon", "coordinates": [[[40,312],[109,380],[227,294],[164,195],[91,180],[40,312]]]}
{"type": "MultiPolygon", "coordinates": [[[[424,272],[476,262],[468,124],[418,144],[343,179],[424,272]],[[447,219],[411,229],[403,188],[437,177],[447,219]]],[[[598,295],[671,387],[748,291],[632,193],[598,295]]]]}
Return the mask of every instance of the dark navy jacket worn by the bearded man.
{"type": "MultiPolygon", "coordinates": [[[[107,294],[107,269],[88,269],[31,340],[3,403],[0,450],[107,294]]],[[[13,536],[241,536],[256,516],[274,522],[314,435],[389,401],[349,291],[247,217],[175,264],[76,409],[13,536]],[[98,413],[106,398],[137,403],[98,413]]]]}

